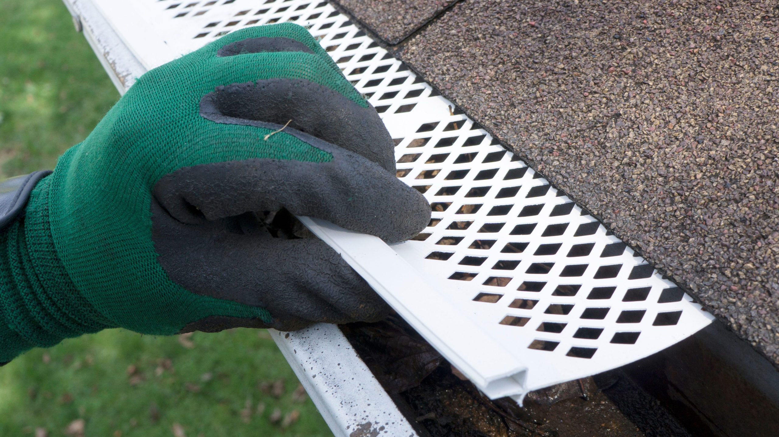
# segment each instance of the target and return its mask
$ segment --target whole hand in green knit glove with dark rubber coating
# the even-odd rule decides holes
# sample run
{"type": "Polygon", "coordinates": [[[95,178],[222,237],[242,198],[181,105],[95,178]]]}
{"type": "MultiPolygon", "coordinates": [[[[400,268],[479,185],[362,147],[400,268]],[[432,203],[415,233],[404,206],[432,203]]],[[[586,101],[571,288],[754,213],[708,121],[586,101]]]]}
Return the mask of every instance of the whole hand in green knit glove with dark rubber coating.
{"type": "Polygon", "coordinates": [[[408,239],[430,208],[394,173],[379,116],[301,26],[238,30],[155,68],[0,231],[0,362],[107,327],[379,319],[385,303],[329,246],[257,217],[408,239]]]}

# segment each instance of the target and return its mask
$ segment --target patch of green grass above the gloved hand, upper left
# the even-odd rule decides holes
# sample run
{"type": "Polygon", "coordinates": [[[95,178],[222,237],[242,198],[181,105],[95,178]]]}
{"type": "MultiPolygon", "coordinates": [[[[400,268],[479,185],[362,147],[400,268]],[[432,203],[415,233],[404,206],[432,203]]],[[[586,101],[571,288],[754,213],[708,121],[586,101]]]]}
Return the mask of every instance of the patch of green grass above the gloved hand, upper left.
{"type": "Polygon", "coordinates": [[[0,0],[0,177],[52,168],[118,98],[58,0],[0,0]]]}

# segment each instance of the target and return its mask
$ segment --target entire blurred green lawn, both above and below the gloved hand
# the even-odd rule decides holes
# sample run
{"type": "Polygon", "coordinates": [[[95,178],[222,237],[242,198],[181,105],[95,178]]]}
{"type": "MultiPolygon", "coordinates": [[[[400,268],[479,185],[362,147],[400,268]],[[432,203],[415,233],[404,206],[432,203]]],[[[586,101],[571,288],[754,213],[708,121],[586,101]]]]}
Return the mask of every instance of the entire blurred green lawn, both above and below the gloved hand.
{"type": "MultiPolygon", "coordinates": [[[[62,2],[0,0],[0,178],[53,168],[117,99],[62,2]]],[[[0,368],[0,436],[16,435],[332,434],[266,330],[105,330],[0,368]]]]}

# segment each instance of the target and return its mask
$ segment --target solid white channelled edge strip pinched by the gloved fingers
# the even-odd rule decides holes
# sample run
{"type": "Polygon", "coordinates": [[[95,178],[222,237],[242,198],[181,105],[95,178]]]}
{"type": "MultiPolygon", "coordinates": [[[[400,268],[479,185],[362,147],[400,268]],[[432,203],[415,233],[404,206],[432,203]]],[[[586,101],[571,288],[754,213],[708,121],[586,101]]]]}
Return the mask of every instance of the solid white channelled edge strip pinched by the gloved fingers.
{"type": "Polygon", "coordinates": [[[477,323],[457,317],[460,309],[442,294],[395,247],[379,237],[351,232],[323,220],[301,222],[335,248],[365,281],[428,343],[468,376],[491,399],[512,396],[521,401],[527,365],[489,337],[477,323]]]}

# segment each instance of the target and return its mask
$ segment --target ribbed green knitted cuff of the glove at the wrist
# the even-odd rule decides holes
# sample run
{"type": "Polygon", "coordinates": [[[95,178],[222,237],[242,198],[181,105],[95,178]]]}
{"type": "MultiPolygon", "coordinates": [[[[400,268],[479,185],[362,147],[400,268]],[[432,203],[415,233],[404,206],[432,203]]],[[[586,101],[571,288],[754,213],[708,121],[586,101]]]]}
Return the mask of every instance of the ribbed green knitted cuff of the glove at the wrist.
{"type": "Polygon", "coordinates": [[[34,347],[111,327],[76,290],[49,228],[44,177],[25,211],[0,231],[0,362],[34,347]]]}

